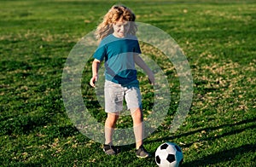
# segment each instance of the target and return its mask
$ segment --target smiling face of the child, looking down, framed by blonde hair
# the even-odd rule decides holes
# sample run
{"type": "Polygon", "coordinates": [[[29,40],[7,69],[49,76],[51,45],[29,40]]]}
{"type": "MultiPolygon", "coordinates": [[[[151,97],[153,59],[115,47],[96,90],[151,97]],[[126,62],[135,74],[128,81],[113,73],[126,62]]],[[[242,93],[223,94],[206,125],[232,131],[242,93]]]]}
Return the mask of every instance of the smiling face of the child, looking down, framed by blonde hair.
{"type": "Polygon", "coordinates": [[[118,20],[113,24],[113,35],[115,37],[125,37],[130,29],[129,21],[118,20]]]}

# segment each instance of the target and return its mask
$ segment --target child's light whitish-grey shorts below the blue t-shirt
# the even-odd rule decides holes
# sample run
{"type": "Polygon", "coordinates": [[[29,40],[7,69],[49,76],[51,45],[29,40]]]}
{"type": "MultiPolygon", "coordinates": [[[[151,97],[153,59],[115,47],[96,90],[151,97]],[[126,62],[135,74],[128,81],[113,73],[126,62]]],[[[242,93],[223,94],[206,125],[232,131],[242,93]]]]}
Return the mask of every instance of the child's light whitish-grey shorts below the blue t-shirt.
{"type": "Polygon", "coordinates": [[[105,112],[121,112],[123,110],[124,97],[128,109],[142,109],[142,95],[138,86],[123,86],[106,80],[104,95],[105,112]]]}

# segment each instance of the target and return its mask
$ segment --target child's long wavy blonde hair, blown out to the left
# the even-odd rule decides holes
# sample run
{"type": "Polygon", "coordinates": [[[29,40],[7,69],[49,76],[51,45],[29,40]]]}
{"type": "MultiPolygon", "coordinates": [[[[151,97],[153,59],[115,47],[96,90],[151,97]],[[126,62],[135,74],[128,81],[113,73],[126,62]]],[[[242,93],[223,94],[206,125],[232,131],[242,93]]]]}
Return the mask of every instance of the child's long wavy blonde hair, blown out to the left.
{"type": "Polygon", "coordinates": [[[102,23],[96,28],[96,39],[101,41],[104,37],[113,33],[113,24],[119,20],[131,21],[128,34],[135,35],[137,32],[137,26],[134,22],[135,19],[136,16],[131,12],[131,9],[123,5],[113,5],[113,7],[108,10],[108,13],[104,15],[102,23]]]}

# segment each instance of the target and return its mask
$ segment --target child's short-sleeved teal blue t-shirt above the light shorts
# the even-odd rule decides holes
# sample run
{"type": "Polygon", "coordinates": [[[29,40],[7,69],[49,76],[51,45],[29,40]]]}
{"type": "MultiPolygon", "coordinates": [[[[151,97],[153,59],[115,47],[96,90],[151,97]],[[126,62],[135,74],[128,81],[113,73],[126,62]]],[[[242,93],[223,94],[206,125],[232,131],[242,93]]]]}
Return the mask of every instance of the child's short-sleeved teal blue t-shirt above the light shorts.
{"type": "Polygon", "coordinates": [[[113,34],[102,39],[93,57],[105,60],[105,78],[119,84],[138,83],[134,54],[141,54],[137,37],[114,37],[113,34]]]}

